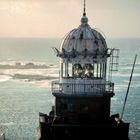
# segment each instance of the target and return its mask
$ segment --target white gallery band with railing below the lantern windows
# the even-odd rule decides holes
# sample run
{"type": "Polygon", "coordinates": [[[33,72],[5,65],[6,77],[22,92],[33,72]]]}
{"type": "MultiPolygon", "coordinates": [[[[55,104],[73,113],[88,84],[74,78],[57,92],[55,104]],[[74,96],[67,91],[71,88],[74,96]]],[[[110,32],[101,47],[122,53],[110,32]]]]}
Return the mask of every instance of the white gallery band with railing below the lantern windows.
{"type": "Polygon", "coordinates": [[[114,83],[106,82],[105,84],[81,84],[81,83],[60,83],[59,81],[52,82],[53,93],[107,93],[114,92],[114,83]]]}

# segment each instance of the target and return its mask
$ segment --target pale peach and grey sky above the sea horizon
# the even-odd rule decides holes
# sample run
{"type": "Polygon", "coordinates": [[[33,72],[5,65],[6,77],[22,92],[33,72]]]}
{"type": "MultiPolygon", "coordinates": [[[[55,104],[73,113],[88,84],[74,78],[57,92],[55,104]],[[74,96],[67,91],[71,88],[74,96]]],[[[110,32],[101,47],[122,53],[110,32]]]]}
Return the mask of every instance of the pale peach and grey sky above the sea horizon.
{"type": "MultiPolygon", "coordinates": [[[[82,13],[83,0],[0,0],[0,37],[62,38],[82,13]]],[[[107,38],[140,38],[140,0],[86,0],[86,14],[107,38]]]]}

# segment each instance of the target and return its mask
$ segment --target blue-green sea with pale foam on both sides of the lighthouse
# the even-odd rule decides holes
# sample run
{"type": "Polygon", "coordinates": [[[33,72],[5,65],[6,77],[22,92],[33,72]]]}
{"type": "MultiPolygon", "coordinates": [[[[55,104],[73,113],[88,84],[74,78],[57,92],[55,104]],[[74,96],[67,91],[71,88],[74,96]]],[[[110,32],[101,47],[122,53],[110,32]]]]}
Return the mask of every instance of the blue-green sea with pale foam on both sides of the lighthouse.
{"type": "MultiPolygon", "coordinates": [[[[51,82],[58,79],[60,38],[0,38],[0,65],[45,65],[47,68],[0,69],[0,131],[6,140],[35,140],[39,112],[54,104],[51,82]],[[18,77],[15,75],[22,75],[18,77]],[[45,78],[42,78],[42,77],[45,78]]],[[[137,55],[123,120],[129,137],[140,140],[140,39],[106,38],[108,48],[119,49],[118,71],[112,72],[115,96],[111,115],[121,114],[134,58],[137,55]]]]}

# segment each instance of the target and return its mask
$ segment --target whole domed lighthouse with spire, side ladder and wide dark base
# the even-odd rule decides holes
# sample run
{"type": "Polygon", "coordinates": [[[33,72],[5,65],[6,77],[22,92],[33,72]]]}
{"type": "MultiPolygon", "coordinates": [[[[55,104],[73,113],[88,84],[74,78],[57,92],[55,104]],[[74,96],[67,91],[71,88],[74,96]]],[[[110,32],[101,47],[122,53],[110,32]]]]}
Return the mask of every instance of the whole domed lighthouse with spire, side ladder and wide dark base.
{"type": "Polygon", "coordinates": [[[108,48],[105,37],[90,27],[85,1],[79,27],[56,52],[60,67],[59,80],[52,82],[55,104],[49,115],[40,113],[40,140],[129,140],[129,123],[110,114],[118,50],[108,48]]]}

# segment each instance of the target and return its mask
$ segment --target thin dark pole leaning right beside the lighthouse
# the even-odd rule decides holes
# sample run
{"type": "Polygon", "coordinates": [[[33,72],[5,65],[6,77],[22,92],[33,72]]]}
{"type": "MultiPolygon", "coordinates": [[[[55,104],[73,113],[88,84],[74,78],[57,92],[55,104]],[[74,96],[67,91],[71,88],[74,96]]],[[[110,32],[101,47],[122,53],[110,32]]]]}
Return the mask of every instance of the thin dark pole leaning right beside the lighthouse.
{"type": "Polygon", "coordinates": [[[132,75],[133,75],[136,59],[137,59],[137,55],[135,55],[135,59],[134,59],[133,67],[132,67],[132,72],[131,72],[131,76],[130,76],[130,80],[129,80],[129,84],[128,84],[128,88],[127,88],[127,92],[126,92],[126,96],[125,96],[125,100],[124,100],[123,110],[121,113],[121,119],[123,118],[124,109],[125,109],[125,105],[126,105],[126,101],[127,101],[127,97],[128,97],[128,92],[129,92],[129,88],[130,88],[130,84],[131,84],[131,80],[132,80],[132,75]]]}

